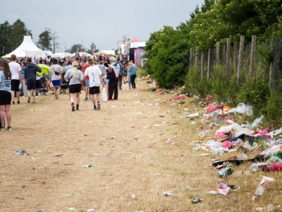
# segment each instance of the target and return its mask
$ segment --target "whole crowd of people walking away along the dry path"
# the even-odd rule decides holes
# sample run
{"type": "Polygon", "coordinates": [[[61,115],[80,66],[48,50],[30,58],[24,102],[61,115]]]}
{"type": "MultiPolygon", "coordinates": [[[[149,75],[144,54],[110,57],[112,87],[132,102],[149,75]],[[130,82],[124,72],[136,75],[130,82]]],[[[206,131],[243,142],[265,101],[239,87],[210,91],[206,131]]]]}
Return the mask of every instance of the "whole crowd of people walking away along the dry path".
{"type": "Polygon", "coordinates": [[[1,126],[5,129],[7,119],[8,130],[11,130],[11,105],[20,104],[20,90],[23,78],[27,86],[27,102],[35,104],[37,89],[38,64],[47,64],[49,74],[44,73],[46,90],[59,99],[61,86],[66,82],[67,93],[70,96],[71,111],[79,110],[80,93],[85,92],[85,101],[92,100],[93,110],[100,110],[100,87],[106,88],[108,100],[118,100],[118,90],[128,81],[127,89],[135,89],[137,66],[128,61],[126,55],[99,55],[94,57],[65,57],[32,59],[31,57],[17,59],[15,54],[10,59],[0,60],[0,110],[1,126]]]}

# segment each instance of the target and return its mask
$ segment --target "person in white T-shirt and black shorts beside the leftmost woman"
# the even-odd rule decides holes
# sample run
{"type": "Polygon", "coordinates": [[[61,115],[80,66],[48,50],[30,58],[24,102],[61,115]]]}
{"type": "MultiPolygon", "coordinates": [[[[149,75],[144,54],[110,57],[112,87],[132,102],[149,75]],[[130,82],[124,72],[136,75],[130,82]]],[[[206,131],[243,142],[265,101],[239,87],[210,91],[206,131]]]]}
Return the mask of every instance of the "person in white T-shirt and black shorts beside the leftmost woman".
{"type": "Polygon", "coordinates": [[[15,105],[15,95],[17,97],[17,104],[20,104],[20,83],[22,83],[23,78],[22,78],[22,69],[20,67],[20,64],[16,62],[16,55],[12,54],[11,55],[11,62],[8,64],[10,67],[10,71],[12,73],[12,78],[11,78],[11,90],[12,90],[12,102],[13,105],[15,105]]]}

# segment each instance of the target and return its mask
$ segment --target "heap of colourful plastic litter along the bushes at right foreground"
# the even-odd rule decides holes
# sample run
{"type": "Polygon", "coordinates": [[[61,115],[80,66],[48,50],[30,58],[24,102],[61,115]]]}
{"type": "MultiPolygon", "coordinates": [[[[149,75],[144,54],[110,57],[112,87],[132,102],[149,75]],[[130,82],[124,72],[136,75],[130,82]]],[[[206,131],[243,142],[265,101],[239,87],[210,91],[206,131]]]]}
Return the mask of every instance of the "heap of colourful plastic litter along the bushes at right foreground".
{"type": "MultiPolygon", "coordinates": [[[[210,101],[212,101],[212,96],[207,97],[207,102],[210,101]]],[[[202,102],[199,105],[202,106],[202,102]]],[[[248,175],[257,170],[262,172],[282,170],[282,128],[274,129],[274,126],[271,125],[265,129],[259,129],[263,116],[257,117],[250,124],[247,122],[244,122],[244,124],[235,122],[235,119],[242,121],[244,117],[252,117],[252,115],[252,107],[244,103],[240,103],[234,108],[228,105],[211,103],[200,112],[184,114],[181,117],[189,117],[190,120],[194,121],[197,118],[200,123],[204,124],[198,131],[199,138],[197,140],[203,141],[207,139],[207,142],[192,143],[193,146],[197,146],[192,150],[207,151],[209,155],[212,155],[212,165],[218,169],[218,176],[226,179],[228,176],[233,175],[232,168],[234,166],[246,162],[252,164],[250,170],[245,171],[248,175]],[[215,157],[226,152],[238,154],[231,156],[228,160],[221,161],[218,161],[219,158],[215,157]],[[248,158],[247,155],[255,156],[248,158]]],[[[236,175],[238,175],[238,172],[236,175]]],[[[259,187],[257,187],[254,195],[250,196],[250,199],[255,200],[262,196],[262,193],[269,188],[270,182],[274,182],[274,179],[263,177],[262,182],[259,183],[259,187]]],[[[240,189],[240,187],[237,189],[240,189]]],[[[226,184],[222,186],[221,184],[219,189],[208,193],[227,195],[231,190],[233,189],[230,186],[226,184]]]]}

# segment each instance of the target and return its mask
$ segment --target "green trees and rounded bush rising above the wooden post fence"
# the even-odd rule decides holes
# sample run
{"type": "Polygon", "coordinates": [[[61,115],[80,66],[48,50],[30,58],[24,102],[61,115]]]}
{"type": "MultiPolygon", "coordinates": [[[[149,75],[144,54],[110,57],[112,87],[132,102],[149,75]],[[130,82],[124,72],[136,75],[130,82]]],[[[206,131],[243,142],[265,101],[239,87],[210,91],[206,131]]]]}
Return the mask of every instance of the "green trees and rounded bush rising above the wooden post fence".
{"type": "Polygon", "coordinates": [[[245,43],[252,35],[258,40],[282,37],[281,19],[280,0],[205,0],[176,29],[165,25],[151,33],[145,47],[145,69],[161,87],[182,86],[190,66],[190,48],[204,52],[227,38],[236,42],[240,35],[245,35],[245,43]]]}

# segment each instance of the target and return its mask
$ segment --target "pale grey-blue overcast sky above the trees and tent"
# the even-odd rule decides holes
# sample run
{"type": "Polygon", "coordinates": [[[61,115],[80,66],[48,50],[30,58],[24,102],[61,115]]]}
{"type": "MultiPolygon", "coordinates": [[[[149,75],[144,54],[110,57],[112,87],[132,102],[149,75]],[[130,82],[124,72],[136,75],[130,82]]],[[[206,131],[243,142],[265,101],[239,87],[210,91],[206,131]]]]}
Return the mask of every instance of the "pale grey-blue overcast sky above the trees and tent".
{"type": "Polygon", "coordinates": [[[90,49],[92,42],[99,50],[118,49],[118,41],[148,40],[164,25],[176,28],[190,19],[190,13],[204,0],[13,0],[0,8],[0,23],[11,25],[20,18],[32,32],[33,42],[45,28],[56,33],[64,52],[75,44],[90,49]]]}

